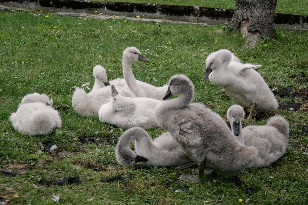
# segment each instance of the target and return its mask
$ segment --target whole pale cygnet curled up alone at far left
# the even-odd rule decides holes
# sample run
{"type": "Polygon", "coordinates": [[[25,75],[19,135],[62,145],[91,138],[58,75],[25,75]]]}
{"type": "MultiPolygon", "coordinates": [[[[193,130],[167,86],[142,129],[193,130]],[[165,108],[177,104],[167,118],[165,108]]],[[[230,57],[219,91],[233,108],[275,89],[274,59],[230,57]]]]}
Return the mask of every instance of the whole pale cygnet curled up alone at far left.
{"type": "Polygon", "coordinates": [[[61,118],[45,94],[31,93],[22,98],[10,120],[16,131],[23,135],[48,135],[61,128],[61,118]]]}

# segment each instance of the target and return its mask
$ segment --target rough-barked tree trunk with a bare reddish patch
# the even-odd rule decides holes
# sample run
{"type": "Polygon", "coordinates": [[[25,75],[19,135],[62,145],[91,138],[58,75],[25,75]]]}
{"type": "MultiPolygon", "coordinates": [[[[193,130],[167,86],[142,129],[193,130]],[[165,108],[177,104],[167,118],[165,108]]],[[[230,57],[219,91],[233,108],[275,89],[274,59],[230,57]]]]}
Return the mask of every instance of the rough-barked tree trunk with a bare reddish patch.
{"type": "Polygon", "coordinates": [[[230,26],[240,30],[249,44],[257,39],[274,37],[277,0],[236,0],[230,26]]]}

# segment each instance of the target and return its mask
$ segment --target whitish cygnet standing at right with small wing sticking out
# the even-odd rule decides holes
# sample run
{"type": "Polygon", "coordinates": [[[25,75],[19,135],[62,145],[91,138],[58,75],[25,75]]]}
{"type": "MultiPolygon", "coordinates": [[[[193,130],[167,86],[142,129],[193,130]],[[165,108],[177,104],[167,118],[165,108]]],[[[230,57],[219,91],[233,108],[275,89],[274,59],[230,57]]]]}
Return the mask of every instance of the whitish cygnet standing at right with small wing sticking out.
{"type": "Polygon", "coordinates": [[[277,100],[262,76],[255,71],[261,65],[242,64],[232,58],[229,50],[221,49],[211,53],[205,61],[204,79],[222,86],[226,94],[244,108],[250,109],[247,119],[254,110],[267,111],[278,108],[277,100]],[[233,61],[231,61],[233,59],[233,61]]]}

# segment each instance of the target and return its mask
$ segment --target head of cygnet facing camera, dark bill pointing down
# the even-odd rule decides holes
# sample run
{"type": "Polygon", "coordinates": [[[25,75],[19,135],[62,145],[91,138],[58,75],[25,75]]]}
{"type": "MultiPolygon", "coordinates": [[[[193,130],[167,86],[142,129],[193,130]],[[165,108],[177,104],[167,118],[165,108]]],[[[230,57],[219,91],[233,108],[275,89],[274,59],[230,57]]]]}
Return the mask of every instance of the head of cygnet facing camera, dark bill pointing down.
{"type": "Polygon", "coordinates": [[[240,134],[241,121],[244,119],[245,112],[242,106],[232,105],[227,111],[227,118],[230,121],[235,136],[240,134]]]}

